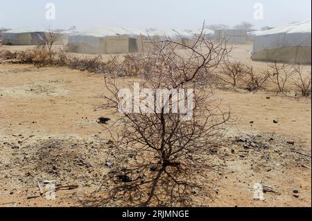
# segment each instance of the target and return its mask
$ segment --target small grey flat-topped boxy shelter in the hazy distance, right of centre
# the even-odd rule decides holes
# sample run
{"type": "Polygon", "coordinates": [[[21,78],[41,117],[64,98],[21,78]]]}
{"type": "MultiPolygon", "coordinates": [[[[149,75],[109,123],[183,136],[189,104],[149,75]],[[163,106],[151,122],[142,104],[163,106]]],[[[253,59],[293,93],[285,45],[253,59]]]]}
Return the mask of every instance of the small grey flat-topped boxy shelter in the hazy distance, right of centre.
{"type": "Polygon", "coordinates": [[[243,44],[246,42],[247,31],[243,29],[215,30],[214,38],[216,42],[228,42],[243,44]]]}

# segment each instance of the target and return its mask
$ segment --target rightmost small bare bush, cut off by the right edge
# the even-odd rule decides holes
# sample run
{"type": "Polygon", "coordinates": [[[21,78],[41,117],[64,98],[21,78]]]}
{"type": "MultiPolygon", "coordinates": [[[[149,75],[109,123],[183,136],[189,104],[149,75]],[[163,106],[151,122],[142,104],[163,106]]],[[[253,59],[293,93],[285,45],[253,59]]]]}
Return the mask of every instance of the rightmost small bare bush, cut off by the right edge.
{"type": "Polygon", "coordinates": [[[293,80],[293,85],[300,89],[302,96],[310,96],[311,95],[311,72],[308,76],[304,77],[303,67],[298,65],[297,67],[293,67],[295,72],[296,80],[293,80]]]}

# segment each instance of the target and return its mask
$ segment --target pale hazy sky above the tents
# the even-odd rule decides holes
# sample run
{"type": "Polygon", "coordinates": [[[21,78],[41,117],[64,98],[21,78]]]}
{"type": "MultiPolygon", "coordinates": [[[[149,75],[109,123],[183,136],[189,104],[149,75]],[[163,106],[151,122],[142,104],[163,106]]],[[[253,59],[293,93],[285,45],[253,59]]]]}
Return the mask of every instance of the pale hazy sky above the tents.
{"type": "Polygon", "coordinates": [[[311,19],[311,0],[0,0],[0,27],[199,28],[234,26],[249,21],[255,28],[311,19]],[[46,3],[55,4],[55,20],[46,19],[46,3]],[[254,19],[262,3],[263,19],[254,19]]]}

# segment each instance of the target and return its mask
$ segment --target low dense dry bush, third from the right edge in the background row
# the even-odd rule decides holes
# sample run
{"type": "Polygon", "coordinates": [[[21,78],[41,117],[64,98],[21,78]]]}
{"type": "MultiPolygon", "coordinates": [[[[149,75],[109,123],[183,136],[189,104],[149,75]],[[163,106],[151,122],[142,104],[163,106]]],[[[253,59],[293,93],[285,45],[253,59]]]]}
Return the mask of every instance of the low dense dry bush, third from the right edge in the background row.
{"type": "Polygon", "coordinates": [[[264,89],[266,82],[268,81],[269,74],[267,71],[255,70],[252,66],[245,66],[245,75],[243,76],[243,82],[247,86],[249,91],[257,91],[264,89]]]}

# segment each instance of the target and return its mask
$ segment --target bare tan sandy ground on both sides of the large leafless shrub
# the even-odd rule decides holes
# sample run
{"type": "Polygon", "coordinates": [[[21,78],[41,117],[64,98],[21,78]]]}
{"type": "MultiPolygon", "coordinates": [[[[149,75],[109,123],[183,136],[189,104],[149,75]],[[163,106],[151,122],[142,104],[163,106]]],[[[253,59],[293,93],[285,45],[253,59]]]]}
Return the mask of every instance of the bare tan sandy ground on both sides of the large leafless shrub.
{"type": "MultiPolygon", "coordinates": [[[[15,49],[20,47],[12,48],[15,49]]],[[[257,67],[266,66],[263,62],[252,62],[250,50],[251,45],[236,46],[233,59],[257,67]]],[[[237,119],[227,134],[229,138],[254,134],[277,136],[275,140],[278,141],[270,150],[248,151],[247,154],[242,144],[225,143],[223,152],[227,153],[227,171],[215,186],[214,201],[203,205],[311,206],[311,100],[263,91],[253,94],[217,89],[214,93],[220,98],[222,107],[230,107],[232,116],[237,119]],[[274,119],[279,123],[273,123],[274,119]],[[254,123],[250,124],[250,121],[254,123]],[[282,156],[277,154],[279,151],[293,150],[294,147],[287,144],[288,140],[295,141],[296,151],[304,152],[307,157],[286,154],[286,157],[275,158],[275,155],[282,156]],[[232,150],[246,155],[233,154],[232,150]],[[257,161],[263,154],[273,156],[270,163],[257,161]],[[254,165],[259,168],[255,169],[254,165]],[[269,169],[268,165],[271,165],[269,169]],[[266,193],[266,200],[252,200],[252,186],[257,182],[275,187],[279,194],[266,193]],[[299,197],[293,196],[294,188],[299,190],[299,197]]],[[[103,94],[103,78],[96,74],[67,68],[37,69],[32,65],[0,64],[0,206],[79,206],[78,199],[97,188],[101,182],[98,177],[107,173],[103,166],[107,150],[98,140],[107,139],[107,134],[103,134],[103,127],[96,120],[100,116],[116,118],[113,113],[97,109],[103,104],[103,94]],[[54,139],[80,143],[77,151],[83,152],[79,154],[85,156],[84,160],[93,162],[92,169],[78,167],[80,176],[85,176],[83,184],[78,184],[79,188],[74,190],[58,191],[56,200],[27,199],[38,193],[37,179],[56,177],[58,182],[66,184],[74,180],[66,176],[58,179],[60,175],[51,175],[49,171],[44,177],[27,161],[31,154],[38,154],[28,150],[31,145],[40,147],[42,142],[54,139]],[[88,154],[94,150],[97,154],[88,154]],[[30,171],[26,171],[28,168],[30,171]],[[86,179],[89,182],[85,182],[86,179]]],[[[53,159],[59,158],[55,156],[53,159]]],[[[71,173],[68,172],[67,176],[71,173]]]]}

